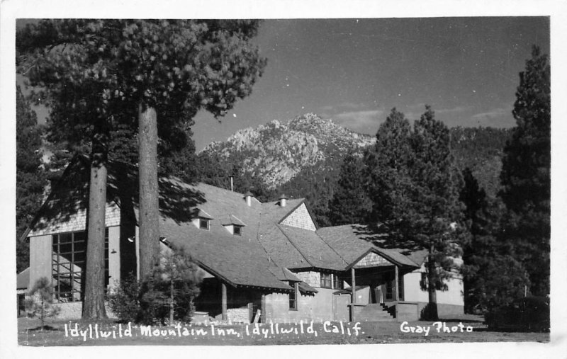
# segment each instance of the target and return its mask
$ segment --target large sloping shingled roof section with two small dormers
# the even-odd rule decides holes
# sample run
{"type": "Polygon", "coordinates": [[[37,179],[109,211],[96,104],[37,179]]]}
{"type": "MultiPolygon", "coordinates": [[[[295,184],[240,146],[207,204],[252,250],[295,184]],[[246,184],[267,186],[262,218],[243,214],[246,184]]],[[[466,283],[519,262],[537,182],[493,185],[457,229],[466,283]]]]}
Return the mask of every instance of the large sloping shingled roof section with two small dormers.
{"type": "MultiPolygon", "coordinates": [[[[191,222],[191,212],[194,212],[191,207],[186,208],[184,221],[174,220],[167,212],[160,211],[159,232],[163,237],[174,246],[183,246],[199,265],[230,285],[293,290],[269,270],[274,263],[268,260],[266,252],[257,242],[258,201],[252,201],[252,205],[248,206],[242,193],[203,183],[190,186],[174,178],[164,181],[177,188],[177,193],[198,193],[202,197],[198,209],[213,219],[210,220],[209,229],[201,229],[191,222]],[[240,236],[234,236],[223,227],[231,213],[238,213],[242,218],[239,219],[240,223],[248,224],[240,236]]],[[[191,199],[176,198],[176,201],[189,203],[191,199]]]]}

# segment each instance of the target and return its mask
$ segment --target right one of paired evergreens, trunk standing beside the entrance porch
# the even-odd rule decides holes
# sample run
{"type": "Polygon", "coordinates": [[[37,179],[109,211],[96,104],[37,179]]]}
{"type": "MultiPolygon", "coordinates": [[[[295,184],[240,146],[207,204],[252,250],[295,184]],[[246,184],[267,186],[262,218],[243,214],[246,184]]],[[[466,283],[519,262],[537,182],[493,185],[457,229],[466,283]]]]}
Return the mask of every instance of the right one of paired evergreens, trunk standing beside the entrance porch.
{"type": "Polygon", "coordinates": [[[427,256],[427,292],[429,312],[426,317],[437,319],[437,287],[451,277],[453,258],[461,254],[464,228],[461,226],[459,188],[461,177],[451,154],[449,129],[434,119],[426,106],[425,113],[415,122],[412,149],[415,162],[410,166],[415,197],[410,209],[412,233],[410,240],[429,251],[427,256]]]}

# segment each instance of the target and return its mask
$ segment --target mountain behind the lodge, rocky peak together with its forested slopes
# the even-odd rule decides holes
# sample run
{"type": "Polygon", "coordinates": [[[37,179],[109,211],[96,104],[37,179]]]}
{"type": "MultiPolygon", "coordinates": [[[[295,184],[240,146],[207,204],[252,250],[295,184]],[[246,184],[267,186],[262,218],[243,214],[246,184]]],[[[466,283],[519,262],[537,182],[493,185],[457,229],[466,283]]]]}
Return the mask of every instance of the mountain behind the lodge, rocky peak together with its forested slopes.
{"type": "MultiPolygon", "coordinates": [[[[481,188],[494,197],[500,188],[503,148],[510,130],[491,127],[451,129],[451,150],[463,171],[471,169],[481,188]]],[[[330,225],[329,201],[348,153],[363,156],[376,139],[306,114],[240,130],[198,154],[201,181],[275,200],[281,193],[305,198],[320,226],[330,225]]]]}

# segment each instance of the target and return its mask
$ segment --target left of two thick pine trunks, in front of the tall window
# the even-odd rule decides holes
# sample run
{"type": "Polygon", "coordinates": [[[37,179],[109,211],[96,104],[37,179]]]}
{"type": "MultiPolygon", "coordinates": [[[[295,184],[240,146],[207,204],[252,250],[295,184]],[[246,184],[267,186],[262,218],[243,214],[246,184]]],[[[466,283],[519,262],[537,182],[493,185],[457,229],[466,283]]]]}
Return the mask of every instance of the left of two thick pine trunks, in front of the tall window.
{"type": "MultiPolygon", "coordinates": [[[[100,144],[99,144],[100,145],[100,144]]],[[[86,269],[83,319],[106,318],[104,308],[104,229],[106,212],[106,154],[95,152],[91,159],[89,227],[86,239],[86,269]]]]}

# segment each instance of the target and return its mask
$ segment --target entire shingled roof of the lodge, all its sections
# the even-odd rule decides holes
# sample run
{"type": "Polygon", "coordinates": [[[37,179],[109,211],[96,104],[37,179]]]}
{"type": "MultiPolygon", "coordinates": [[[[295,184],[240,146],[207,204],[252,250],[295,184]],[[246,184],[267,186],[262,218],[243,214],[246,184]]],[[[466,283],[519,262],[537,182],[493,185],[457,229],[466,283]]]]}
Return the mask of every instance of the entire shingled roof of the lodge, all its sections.
{"type": "MultiPolygon", "coordinates": [[[[64,186],[55,188],[50,195],[33,222],[30,229],[35,232],[31,233],[64,232],[62,226],[77,216],[80,221],[75,221],[72,230],[84,230],[82,221],[86,220],[88,198],[82,182],[88,182],[88,174],[88,159],[74,159],[65,171],[64,186]],[[40,232],[42,226],[51,232],[40,232]]],[[[109,164],[107,194],[111,206],[107,225],[109,214],[112,225],[125,219],[135,224],[137,168],[109,164]]],[[[366,227],[339,226],[314,231],[282,224],[304,203],[302,198],[288,199],[282,207],[279,201],[260,203],[252,198],[248,205],[242,193],[204,183],[190,185],[174,177],[159,178],[160,236],[172,246],[183,246],[203,269],[235,287],[291,291],[293,288],[287,283],[298,279],[286,268],[342,271],[369,251],[400,266],[418,267],[422,263],[423,253],[409,253],[408,257],[398,249],[377,246],[376,234],[366,227]],[[193,223],[198,217],[209,220],[208,229],[193,223]],[[225,227],[227,224],[245,227],[235,236],[225,227]]],[[[316,292],[302,282],[300,289],[316,292]]]]}

